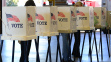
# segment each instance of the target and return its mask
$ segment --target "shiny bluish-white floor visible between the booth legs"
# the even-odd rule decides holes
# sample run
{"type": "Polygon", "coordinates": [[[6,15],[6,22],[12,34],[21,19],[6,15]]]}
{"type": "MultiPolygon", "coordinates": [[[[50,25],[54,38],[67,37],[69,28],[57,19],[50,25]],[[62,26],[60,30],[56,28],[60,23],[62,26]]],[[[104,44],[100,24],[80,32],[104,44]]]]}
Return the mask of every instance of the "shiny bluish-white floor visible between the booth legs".
{"type": "MultiPolygon", "coordinates": [[[[100,34],[99,32],[96,32],[98,51],[99,51],[99,38],[100,38],[99,34],[100,34]]],[[[84,33],[81,33],[81,46],[80,47],[82,47],[83,36],[84,36],[84,33]]],[[[93,42],[93,36],[92,36],[92,42],[93,42]]],[[[108,57],[106,36],[103,33],[102,33],[102,42],[103,42],[103,61],[101,60],[100,51],[99,51],[99,61],[100,62],[111,62],[111,58],[108,57]]],[[[74,44],[74,36],[73,36],[73,39],[72,39],[71,50],[73,49],[73,44],[74,44]]],[[[40,43],[39,43],[40,62],[45,62],[47,47],[48,47],[47,37],[41,36],[40,37],[40,43]]],[[[62,52],[62,37],[61,36],[60,36],[60,47],[61,47],[61,52],[62,52]]],[[[55,62],[55,60],[56,60],[56,49],[57,49],[56,36],[52,36],[52,39],[51,39],[52,62],[55,62]]],[[[85,42],[85,47],[84,47],[84,51],[83,51],[82,62],[90,62],[90,59],[89,59],[89,56],[88,56],[88,49],[89,49],[88,35],[86,35],[86,42],[85,42]]],[[[16,40],[16,42],[15,42],[15,59],[14,59],[14,62],[19,62],[20,53],[21,53],[20,44],[16,40]]],[[[5,40],[4,44],[3,44],[3,50],[2,50],[3,62],[11,62],[11,56],[12,56],[12,41],[11,40],[5,40]]],[[[95,45],[93,47],[92,58],[93,58],[92,59],[93,62],[97,62],[95,45]]],[[[30,50],[30,55],[29,55],[29,62],[36,62],[36,50],[35,50],[34,40],[33,40],[32,45],[31,45],[31,50],[30,50]]],[[[58,62],[60,62],[60,61],[58,60],[58,62]]]]}

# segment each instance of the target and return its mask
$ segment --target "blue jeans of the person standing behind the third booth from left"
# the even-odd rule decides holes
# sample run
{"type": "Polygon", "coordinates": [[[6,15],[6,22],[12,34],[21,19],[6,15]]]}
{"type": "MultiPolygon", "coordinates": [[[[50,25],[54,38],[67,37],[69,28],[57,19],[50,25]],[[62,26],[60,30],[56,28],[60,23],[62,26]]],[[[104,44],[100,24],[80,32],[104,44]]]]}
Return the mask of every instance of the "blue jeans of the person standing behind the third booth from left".
{"type": "Polygon", "coordinates": [[[63,50],[62,50],[62,55],[63,59],[67,61],[68,58],[68,50],[69,50],[69,43],[68,43],[68,34],[67,33],[61,33],[62,35],[62,40],[63,40],[63,50]]]}

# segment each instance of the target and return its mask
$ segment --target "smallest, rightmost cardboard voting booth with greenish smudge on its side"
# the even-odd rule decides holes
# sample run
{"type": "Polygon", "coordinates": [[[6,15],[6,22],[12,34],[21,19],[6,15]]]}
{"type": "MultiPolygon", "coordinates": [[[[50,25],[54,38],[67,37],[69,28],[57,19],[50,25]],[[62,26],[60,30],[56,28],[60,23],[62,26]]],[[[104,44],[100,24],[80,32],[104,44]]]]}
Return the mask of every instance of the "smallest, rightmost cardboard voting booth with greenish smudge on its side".
{"type": "Polygon", "coordinates": [[[106,8],[94,7],[94,17],[95,28],[106,27],[106,8]]]}

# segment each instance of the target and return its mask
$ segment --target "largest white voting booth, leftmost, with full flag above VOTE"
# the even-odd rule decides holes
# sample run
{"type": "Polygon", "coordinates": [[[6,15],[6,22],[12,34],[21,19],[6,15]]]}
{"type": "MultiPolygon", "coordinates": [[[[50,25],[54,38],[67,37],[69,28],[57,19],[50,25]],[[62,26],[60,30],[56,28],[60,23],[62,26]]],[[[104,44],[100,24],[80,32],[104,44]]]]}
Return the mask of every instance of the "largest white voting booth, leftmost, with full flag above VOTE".
{"type": "Polygon", "coordinates": [[[36,39],[35,7],[2,8],[2,40],[36,39]]]}

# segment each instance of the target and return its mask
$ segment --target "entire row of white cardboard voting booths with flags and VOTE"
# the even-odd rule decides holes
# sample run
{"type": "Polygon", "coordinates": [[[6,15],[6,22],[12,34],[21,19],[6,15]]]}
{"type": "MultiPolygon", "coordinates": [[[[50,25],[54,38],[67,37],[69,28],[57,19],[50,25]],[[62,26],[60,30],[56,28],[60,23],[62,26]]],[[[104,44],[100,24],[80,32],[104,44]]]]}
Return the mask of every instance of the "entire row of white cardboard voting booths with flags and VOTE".
{"type": "Polygon", "coordinates": [[[103,7],[3,7],[3,40],[31,40],[106,27],[103,7]]]}

